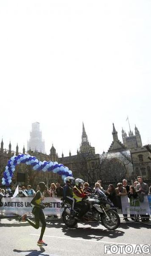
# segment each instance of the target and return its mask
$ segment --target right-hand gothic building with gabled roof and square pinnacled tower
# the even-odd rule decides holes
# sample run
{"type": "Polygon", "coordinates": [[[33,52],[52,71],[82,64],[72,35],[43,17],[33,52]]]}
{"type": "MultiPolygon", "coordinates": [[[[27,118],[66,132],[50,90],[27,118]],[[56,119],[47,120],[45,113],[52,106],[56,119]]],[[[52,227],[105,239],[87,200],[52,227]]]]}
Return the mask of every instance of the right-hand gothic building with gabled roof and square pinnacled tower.
{"type": "MultiPolygon", "coordinates": [[[[126,177],[128,179],[136,179],[138,175],[142,176],[145,180],[151,180],[151,161],[148,157],[151,157],[151,153],[142,145],[140,132],[135,126],[135,135],[129,131],[129,137],[122,129],[123,144],[118,140],[117,131],[113,124],[112,131],[113,141],[108,150],[108,157],[116,157],[121,160],[121,156],[126,159],[126,177]],[[131,168],[132,165],[132,168],[131,168]]],[[[123,159],[124,159],[123,158],[123,159]]],[[[123,160],[122,160],[123,161],[123,160]]]]}

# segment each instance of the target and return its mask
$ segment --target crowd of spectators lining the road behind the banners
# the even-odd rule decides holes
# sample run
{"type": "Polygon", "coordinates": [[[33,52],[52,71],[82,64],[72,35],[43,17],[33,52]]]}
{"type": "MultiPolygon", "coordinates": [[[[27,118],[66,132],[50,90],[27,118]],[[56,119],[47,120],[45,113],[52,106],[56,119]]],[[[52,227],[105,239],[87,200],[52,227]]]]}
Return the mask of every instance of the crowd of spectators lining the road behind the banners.
{"type": "MultiPolygon", "coordinates": [[[[0,199],[3,197],[13,197],[16,187],[12,185],[11,188],[0,189],[0,199]]],[[[31,185],[28,186],[20,186],[17,197],[34,197],[36,191],[39,190],[39,185],[36,186],[34,190],[31,185]]],[[[89,183],[85,182],[83,184],[84,193],[97,193],[103,192],[109,199],[112,201],[115,207],[122,209],[121,204],[121,196],[128,195],[129,198],[134,199],[135,201],[144,201],[144,195],[151,195],[151,186],[143,182],[143,177],[138,176],[137,180],[134,181],[133,185],[128,185],[126,179],[123,179],[122,183],[117,183],[117,187],[113,186],[113,184],[109,184],[108,188],[105,190],[102,187],[102,181],[98,180],[95,183],[94,188],[89,186],[89,183]]],[[[63,196],[63,187],[60,183],[51,183],[50,186],[44,192],[45,197],[59,197],[63,196]]],[[[129,221],[127,218],[127,214],[123,215],[125,221],[129,221]]],[[[130,215],[131,220],[138,220],[139,215],[130,215]]],[[[141,218],[149,218],[148,216],[141,215],[141,218]]]]}

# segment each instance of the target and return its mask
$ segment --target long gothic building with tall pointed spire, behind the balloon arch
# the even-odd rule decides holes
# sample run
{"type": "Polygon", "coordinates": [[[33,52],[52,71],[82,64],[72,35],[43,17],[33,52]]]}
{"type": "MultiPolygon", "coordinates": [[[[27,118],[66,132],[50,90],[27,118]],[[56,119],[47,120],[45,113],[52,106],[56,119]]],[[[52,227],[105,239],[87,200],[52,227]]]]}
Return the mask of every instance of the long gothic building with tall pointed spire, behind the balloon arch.
{"type": "MultiPolygon", "coordinates": [[[[25,148],[23,148],[22,152],[25,154],[25,148]]],[[[82,130],[82,137],[81,137],[81,145],[80,149],[77,150],[76,155],[71,155],[69,152],[68,157],[64,157],[62,152],[62,157],[58,157],[56,153],[56,149],[52,145],[50,148],[50,154],[43,154],[37,150],[37,147],[34,146],[32,150],[31,147],[28,150],[30,155],[34,155],[38,160],[41,161],[57,161],[58,163],[63,163],[64,166],[67,166],[73,172],[74,177],[81,177],[85,181],[91,182],[93,179],[99,179],[97,177],[98,167],[99,167],[99,154],[95,154],[95,148],[91,146],[88,141],[88,137],[84,128],[83,123],[83,130],[82,130]]],[[[9,150],[3,150],[3,140],[1,142],[0,148],[0,173],[1,177],[3,175],[3,171],[5,166],[7,165],[7,161],[13,156],[14,154],[20,154],[18,145],[16,147],[16,152],[11,151],[11,143],[9,144],[9,150]]],[[[31,166],[27,166],[25,164],[20,164],[16,166],[13,183],[15,184],[31,184],[36,185],[40,181],[45,181],[46,184],[50,185],[52,182],[59,181],[62,183],[62,177],[60,175],[54,174],[53,172],[42,172],[42,171],[34,171],[31,166]]]]}

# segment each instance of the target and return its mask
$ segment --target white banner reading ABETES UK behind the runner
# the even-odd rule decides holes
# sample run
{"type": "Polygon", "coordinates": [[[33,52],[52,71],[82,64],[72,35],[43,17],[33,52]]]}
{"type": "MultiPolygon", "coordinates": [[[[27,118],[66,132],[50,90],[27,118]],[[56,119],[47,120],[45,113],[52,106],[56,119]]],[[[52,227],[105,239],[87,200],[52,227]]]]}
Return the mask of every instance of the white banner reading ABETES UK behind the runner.
{"type": "MultiPolygon", "coordinates": [[[[43,210],[45,215],[58,215],[61,216],[63,209],[61,207],[61,198],[47,197],[42,201],[48,203],[43,210]]],[[[0,215],[18,214],[23,215],[27,213],[31,216],[33,209],[31,205],[32,198],[2,198],[0,202],[0,215]]]]}

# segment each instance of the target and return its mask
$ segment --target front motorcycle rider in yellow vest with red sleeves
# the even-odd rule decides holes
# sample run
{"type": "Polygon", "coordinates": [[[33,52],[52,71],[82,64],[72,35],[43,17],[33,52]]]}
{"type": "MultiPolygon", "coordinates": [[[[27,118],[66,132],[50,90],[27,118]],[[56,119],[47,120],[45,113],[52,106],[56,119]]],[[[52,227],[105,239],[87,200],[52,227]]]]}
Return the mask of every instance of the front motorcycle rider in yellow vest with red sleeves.
{"type": "MultiPolygon", "coordinates": [[[[73,198],[76,199],[75,206],[79,207],[81,211],[79,212],[78,219],[82,218],[83,215],[88,211],[89,206],[82,201],[83,198],[87,197],[82,189],[82,184],[84,180],[77,178],[75,180],[75,186],[73,187],[73,198]]],[[[77,218],[77,217],[75,217],[77,218]]]]}

